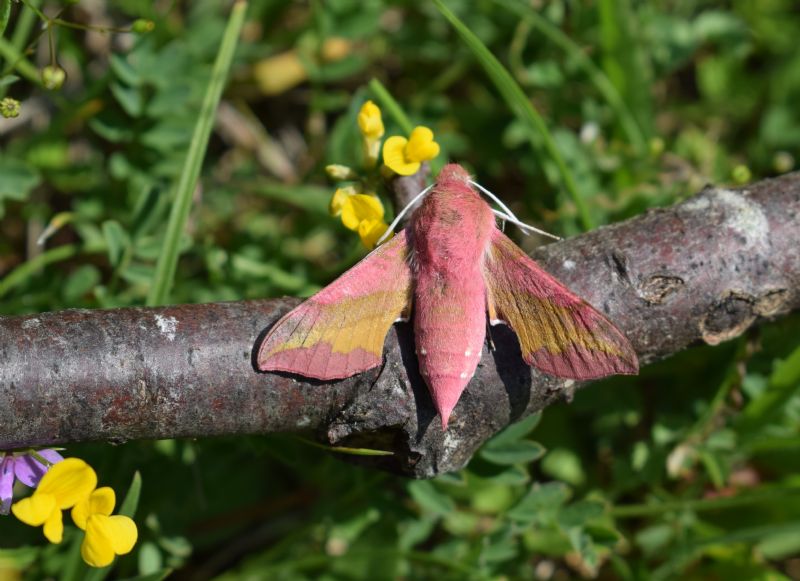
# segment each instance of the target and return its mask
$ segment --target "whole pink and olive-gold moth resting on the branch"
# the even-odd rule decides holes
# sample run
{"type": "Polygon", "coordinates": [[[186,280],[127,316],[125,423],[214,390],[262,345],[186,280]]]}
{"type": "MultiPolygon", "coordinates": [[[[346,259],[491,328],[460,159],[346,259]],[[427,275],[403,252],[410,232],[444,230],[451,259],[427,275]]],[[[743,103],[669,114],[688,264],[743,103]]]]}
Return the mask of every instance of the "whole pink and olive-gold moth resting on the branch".
{"type": "Polygon", "coordinates": [[[547,374],[638,372],[628,339],[500,231],[457,164],[442,169],[404,230],[270,329],[257,366],[350,377],[380,365],[389,328],[413,319],[419,370],[447,429],[480,361],[487,317],[509,325],[525,362],[547,374]]]}

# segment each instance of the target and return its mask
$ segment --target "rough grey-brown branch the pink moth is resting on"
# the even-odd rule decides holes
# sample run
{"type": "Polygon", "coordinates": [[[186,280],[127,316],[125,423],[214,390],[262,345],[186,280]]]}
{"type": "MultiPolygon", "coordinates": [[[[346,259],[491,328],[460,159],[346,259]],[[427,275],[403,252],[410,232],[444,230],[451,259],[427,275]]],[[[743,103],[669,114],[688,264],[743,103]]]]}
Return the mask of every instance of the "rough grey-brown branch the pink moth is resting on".
{"type": "MultiPolygon", "coordinates": [[[[663,210],[538,249],[544,266],[605,312],[647,364],[800,306],[800,174],[708,188],[663,210]]],[[[568,396],[492,331],[442,432],[408,325],[382,367],[344,381],[258,373],[257,338],[294,299],[0,319],[0,449],[87,440],[311,431],[362,459],[430,477],[463,466],[507,424],[568,396]]]]}

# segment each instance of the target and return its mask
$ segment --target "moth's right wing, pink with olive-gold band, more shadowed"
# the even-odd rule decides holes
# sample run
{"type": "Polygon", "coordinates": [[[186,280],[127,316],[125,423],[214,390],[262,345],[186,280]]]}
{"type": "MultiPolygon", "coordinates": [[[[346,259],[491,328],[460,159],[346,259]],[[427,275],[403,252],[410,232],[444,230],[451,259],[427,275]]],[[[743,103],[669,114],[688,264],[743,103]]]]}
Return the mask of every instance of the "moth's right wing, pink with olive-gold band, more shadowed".
{"type": "Polygon", "coordinates": [[[613,323],[499,230],[492,234],[484,275],[489,317],[511,326],[529,365],[572,379],[638,372],[633,347],[613,323]]]}

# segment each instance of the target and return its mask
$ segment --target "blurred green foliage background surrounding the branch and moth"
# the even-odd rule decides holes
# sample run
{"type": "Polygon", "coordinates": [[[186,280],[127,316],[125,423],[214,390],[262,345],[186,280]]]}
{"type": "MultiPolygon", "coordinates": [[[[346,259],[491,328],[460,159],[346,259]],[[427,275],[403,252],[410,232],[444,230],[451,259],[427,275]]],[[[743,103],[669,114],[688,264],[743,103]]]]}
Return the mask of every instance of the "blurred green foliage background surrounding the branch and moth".
{"type": "MultiPolygon", "coordinates": [[[[0,313],[312,293],[364,253],[324,166],[358,164],[367,98],[405,133],[379,83],[438,162],[564,236],[796,166],[794,0],[444,4],[251,2],[181,190],[230,5],[0,0],[0,96],[21,107],[0,119],[0,313]]],[[[433,481],[289,436],[66,453],[120,496],[141,472],[116,578],[797,579],[799,322],[596,384],[433,481]]],[[[83,579],[79,540],[0,517],[0,578],[83,579]]]]}

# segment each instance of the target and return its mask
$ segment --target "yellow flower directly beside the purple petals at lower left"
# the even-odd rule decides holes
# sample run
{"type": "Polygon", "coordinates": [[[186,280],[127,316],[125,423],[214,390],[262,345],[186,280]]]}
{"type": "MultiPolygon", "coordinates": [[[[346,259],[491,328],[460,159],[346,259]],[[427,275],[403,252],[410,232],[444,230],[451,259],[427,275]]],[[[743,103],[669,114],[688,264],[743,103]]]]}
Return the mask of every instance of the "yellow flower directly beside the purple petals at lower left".
{"type": "Polygon", "coordinates": [[[61,511],[78,504],[97,486],[97,475],[79,458],[57,462],[28,497],[16,502],[11,510],[25,524],[44,525],[44,536],[51,543],[60,543],[64,533],[61,511]]]}

